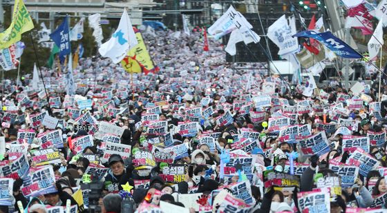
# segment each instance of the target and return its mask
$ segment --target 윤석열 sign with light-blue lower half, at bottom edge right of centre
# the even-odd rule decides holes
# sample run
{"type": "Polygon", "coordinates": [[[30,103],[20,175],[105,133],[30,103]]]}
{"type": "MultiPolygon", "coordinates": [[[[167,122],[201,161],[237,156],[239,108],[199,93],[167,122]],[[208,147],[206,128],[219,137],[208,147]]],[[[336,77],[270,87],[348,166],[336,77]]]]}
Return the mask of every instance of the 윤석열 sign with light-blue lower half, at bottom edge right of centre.
{"type": "Polygon", "coordinates": [[[312,192],[298,192],[297,197],[302,212],[330,212],[330,195],[325,189],[318,189],[312,192]]]}

